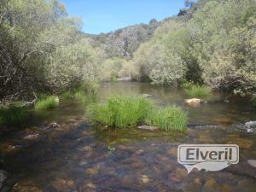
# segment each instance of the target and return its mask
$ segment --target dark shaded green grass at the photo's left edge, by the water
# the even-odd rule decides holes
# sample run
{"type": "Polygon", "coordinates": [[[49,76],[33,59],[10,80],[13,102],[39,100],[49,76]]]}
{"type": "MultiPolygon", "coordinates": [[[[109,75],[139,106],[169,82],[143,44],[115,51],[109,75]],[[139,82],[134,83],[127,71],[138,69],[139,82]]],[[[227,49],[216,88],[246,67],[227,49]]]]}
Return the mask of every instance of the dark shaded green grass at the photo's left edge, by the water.
{"type": "Polygon", "coordinates": [[[26,120],[27,116],[26,108],[16,106],[0,107],[0,125],[20,125],[26,120]]]}

